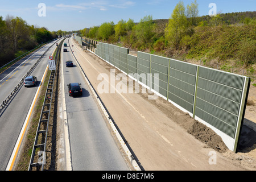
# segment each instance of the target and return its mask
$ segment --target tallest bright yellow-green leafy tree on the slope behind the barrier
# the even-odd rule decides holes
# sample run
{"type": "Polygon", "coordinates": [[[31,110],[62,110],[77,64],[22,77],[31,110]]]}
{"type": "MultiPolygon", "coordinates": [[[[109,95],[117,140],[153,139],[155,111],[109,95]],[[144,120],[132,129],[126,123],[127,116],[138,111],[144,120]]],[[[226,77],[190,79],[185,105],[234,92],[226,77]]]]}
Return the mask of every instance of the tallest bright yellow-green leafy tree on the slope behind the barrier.
{"type": "Polygon", "coordinates": [[[187,18],[185,16],[185,6],[182,1],[177,3],[165,29],[166,39],[176,48],[180,48],[182,36],[185,33],[187,18]]]}

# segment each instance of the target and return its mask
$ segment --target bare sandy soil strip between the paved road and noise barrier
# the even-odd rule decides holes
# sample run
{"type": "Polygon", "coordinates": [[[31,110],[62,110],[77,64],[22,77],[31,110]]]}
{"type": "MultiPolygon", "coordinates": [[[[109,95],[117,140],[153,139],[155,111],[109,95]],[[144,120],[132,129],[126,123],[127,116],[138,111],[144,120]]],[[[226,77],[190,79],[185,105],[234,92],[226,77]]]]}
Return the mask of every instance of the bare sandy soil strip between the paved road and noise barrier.
{"type": "MultiPolygon", "coordinates": [[[[72,40],[73,41],[73,40],[72,40]]],[[[102,80],[110,77],[114,67],[83,50],[73,42],[74,54],[97,91],[102,80]]],[[[115,69],[115,75],[119,72],[115,69]]],[[[127,83],[128,78],[123,79],[127,83]]],[[[110,81],[109,81],[110,82],[110,81]]],[[[120,81],[115,81],[115,85],[120,81]]],[[[109,83],[109,89],[111,86],[109,83]]],[[[142,93],[98,93],[142,169],[150,170],[255,170],[256,126],[255,86],[251,86],[249,105],[242,127],[238,153],[229,151],[211,129],[195,121],[189,114],[158,97],[148,100],[142,93]],[[250,127],[248,127],[250,126],[250,127]]]]}

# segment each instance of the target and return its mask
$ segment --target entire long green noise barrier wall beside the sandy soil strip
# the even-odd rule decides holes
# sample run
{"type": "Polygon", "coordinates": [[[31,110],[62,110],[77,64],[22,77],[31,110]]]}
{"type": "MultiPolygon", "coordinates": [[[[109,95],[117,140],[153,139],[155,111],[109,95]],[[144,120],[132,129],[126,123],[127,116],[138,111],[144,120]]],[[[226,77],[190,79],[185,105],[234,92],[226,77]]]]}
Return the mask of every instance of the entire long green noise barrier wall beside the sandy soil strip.
{"type": "Polygon", "coordinates": [[[95,53],[213,129],[237,151],[249,77],[141,51],[133,56],[111,44],[98,43],[95,53]]]}

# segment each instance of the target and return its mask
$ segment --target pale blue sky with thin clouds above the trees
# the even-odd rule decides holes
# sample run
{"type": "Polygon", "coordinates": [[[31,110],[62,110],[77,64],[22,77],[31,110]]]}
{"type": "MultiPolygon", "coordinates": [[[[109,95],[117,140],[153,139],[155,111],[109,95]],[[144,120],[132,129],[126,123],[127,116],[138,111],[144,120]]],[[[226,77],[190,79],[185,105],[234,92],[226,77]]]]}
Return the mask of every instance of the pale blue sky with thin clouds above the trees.
{"type": "MultiPolygon", "coordinates": [[[[179,0],[0,0],[0,16],[19,16],[30,25],[46,27],[49,31],[72,31],[100,26],[104,22],[118,23],[133,19],[139,22],[144,16],[168,19],[179,0]],[[39,16],[39,3],[46,5],[45,16],[39,16]]],[[[187,6],[194,0],[183,0],[187,6]]],[[[199,15],[208,15],[210,3],[215,3],[217,13],[256,11],[256,0],[197,0],[199,15]]]]}

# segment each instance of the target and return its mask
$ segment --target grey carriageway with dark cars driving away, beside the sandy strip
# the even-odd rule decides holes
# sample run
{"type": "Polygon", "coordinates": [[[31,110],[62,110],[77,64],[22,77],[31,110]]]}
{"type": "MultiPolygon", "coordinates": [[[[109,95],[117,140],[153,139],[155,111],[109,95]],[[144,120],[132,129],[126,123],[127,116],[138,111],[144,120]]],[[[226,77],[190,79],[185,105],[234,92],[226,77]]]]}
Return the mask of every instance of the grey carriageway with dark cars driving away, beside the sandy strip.
{"type": "MultiPolygon", "coordinates": [[[[72,39],[72,38],[70,38],[72,39]]],[[[69,39],[65,39],[68,52],[61,49],[61,67],[65,95],[65,107],[67,111],[67,122],[69,130],[69,143],[71,153],[71,165],[74,171],[112,171],[130,170],[127,166],[121,151],[117,147],[106,121],[90,94],[88,85],[82,75],[79,65],[72,50],[69,47],[69,39]],[[73,67],[65,67],[65,61],[72,60],[73,67]],[[68,86],[70,82],[79,82],[82,86],[81,97],[70,97],[68,86]]],[[[62,87],[62,88],[63,88],[62,87]]]]}

